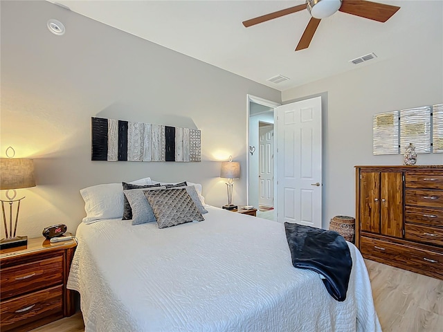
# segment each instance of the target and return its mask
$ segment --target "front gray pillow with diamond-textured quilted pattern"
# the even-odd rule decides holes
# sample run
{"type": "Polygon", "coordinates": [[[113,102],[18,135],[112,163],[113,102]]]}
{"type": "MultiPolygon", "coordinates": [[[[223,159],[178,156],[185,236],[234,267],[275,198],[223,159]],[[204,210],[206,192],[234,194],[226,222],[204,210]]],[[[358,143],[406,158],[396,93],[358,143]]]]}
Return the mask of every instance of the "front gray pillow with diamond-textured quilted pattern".
{"type": "Polygon", "coordinates": [[[205,220],[185,188],[150,190],[143,194],[154,211],[159,228],[205,220]]]}

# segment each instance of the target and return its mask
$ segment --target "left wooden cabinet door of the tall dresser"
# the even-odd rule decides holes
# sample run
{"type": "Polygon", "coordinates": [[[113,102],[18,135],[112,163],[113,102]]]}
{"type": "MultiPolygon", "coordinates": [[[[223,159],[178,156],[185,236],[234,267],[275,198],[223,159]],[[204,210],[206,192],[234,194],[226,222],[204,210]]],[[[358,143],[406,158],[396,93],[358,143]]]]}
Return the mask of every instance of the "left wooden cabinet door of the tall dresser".
{"type": "Polygon", "coordinates": [[[361,230],[380,232],[380,172],[361,172],[361,230]]]}

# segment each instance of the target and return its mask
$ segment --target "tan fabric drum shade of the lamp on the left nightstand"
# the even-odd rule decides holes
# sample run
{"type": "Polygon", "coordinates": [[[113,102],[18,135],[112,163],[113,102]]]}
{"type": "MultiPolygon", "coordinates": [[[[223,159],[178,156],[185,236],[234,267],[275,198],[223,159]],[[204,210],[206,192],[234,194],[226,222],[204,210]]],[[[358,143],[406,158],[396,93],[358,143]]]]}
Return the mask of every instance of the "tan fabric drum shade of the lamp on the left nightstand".
{"type": "Polygon", "coordinates": [[[0,190],[35,187],[34,160],[0,159],[0,190]]]}

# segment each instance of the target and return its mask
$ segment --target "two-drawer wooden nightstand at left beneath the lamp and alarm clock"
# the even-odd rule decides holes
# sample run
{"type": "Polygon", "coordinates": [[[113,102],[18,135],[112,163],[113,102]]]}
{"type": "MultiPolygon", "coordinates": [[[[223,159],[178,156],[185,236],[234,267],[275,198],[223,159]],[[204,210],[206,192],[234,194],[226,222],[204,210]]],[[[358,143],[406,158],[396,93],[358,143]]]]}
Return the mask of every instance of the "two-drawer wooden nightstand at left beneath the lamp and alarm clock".
{"type": "Polygon", "coordinates": [[[0,250],[0,330],[29,331],[75,313],[66,289],[74,240],[51,244],[44,237],[28,246],[0,250]]]}

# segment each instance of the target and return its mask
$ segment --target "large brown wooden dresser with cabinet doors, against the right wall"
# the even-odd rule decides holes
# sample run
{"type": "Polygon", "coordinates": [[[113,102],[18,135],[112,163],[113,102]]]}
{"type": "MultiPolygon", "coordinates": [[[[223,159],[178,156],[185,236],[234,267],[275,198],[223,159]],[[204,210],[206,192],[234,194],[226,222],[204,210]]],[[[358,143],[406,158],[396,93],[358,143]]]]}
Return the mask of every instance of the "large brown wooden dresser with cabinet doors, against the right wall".
{"type": "Polygon", "coordinates": [[[443,165],[355,168],[363,257],[443,279],[443,165]]]}

